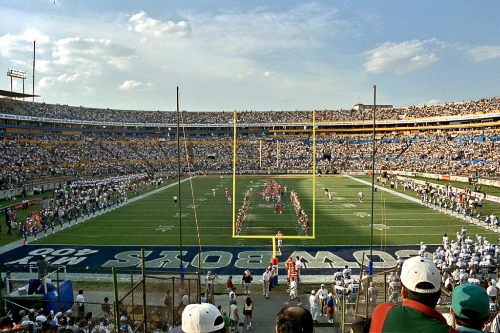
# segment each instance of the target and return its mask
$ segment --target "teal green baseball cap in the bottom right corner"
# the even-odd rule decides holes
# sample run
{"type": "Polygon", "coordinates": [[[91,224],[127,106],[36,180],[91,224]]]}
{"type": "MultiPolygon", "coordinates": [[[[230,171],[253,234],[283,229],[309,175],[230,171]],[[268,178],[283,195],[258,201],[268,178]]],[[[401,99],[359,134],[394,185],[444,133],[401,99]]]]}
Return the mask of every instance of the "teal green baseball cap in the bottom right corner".
{"type": "Polygon", "coordinates": [[[489,315],[488,295],[484,289],[472,283],[459,285],[451,296],[451,309],[460,318],[486,318],[489,315]]]}

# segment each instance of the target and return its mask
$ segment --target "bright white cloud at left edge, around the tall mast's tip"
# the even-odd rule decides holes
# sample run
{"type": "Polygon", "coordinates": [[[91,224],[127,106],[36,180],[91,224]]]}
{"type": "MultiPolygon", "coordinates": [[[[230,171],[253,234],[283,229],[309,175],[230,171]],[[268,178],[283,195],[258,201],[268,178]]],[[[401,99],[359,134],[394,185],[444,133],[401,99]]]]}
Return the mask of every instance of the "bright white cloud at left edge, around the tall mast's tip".
{"type": "Polygon", "coordinates": [[[36,40],[36,44],[40,45],[47,43],[49,37],[35,29],[27,29],[18,35],[4,34],[0,37],[0,55],[8,57],[15,51],[30,51],[32,53],[33,40],[36,40]]]}

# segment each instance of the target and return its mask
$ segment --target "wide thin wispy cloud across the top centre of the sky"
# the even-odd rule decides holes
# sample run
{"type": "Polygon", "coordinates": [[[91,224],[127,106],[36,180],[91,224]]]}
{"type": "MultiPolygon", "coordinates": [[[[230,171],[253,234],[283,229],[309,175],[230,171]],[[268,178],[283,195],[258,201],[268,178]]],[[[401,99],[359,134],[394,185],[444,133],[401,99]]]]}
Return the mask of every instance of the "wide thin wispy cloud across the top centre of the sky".
{"type": "Polygon", "coordinates": [[[248,11],[185,14],[192,38],[213,54],[246,56],[248,53],[317,50],[351,23],[339,20],[331,5],[304,3],[288,10],[254,7],[248,11]]]}

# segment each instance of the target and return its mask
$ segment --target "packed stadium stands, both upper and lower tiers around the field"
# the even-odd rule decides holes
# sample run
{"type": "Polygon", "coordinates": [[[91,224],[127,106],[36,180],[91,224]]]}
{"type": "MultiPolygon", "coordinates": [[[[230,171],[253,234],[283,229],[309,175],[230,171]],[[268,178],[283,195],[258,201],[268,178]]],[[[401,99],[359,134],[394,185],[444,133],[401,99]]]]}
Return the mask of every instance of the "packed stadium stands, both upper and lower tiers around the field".
{"type": "MultiPolygon", "coordinates": [[[[135,170],[151,173],[176,170],[175,136],[169,133],[165,135],[165,128],[161,128],[175,122],[174,112],[95,109],[12,100],[1,100],[0,107],[0,113],[4,115],[29,115],[39,117],[37,119],[53,118],[59,121],[42,123],[33,119],[2,119],[0,189],[49,178],[75,179],[123,175],[135,170]],[[141,128],[129,130],[126,126],[76,126],[64,123],[62,119],[133,121],[158,123],[161,126],[160,131],[141,128]]],[[[397,126],[397,119],[488,114],[498,108],[500,97],[496,96],[441,105],[380,109],[377,118],[395,119],[394,124],[397,126]]],[[[277,171],[311,170],[310,128],[305,129],[303,126],[304,129],[298,130],[298,126],[288,131],[286,126],[275,128],[279,123],[310,122],[311,115],[311,111],[238,112],[239,122],[256,124],[238,132],[238,171],[260,170],[261,147],[262,144],[269,144],[269,140],[278,146],[275,161],[272,162],[277,171]],[[271,123],[274,125],[271,126],[271,123]]],[[[182,134],[183,173],[231,170],[232,117],[232,112],[224,111],[182,112],[183,124],[204,126],[182,134]]],[[[324,110],[316,113],[319,124],[321,121],[367,120],[370,117],[371,110],[324,110]]],[[[472,123],[473,126],[470,126],[469,121],[466,125],[454,126],[451,131],[440,125],[438,120],[432,128],[423,123],[410,131],[394,131],[392,127],[378,130],[375,169],[496,175],[500,149],[494,123],[493,126],[486,126],[479,119],[472,123]]],[[[352,126],[350,130],[343,128],[338,131],[317,128],[315,157],[318,169],[329,172],[371,169],[371,137],[369,134],[356,133],[355,130],[356,127],[352,129],[352,126]],[[325,155],[327,159],[323,158],[325,155]]]]}

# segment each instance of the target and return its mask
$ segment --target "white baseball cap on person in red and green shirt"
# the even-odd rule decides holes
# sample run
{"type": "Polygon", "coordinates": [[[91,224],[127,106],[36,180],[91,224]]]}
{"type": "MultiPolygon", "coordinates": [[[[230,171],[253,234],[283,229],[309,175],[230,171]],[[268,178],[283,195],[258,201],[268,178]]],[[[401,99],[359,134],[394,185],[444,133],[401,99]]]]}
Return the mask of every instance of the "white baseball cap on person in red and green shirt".
{"type": "Polygon", "coordinates": [[[430,259],[415,256],[404,261],[401,267],[401,283],[404,288],[415,293],[431,294],[441,288],[441,277],[436,266],[430,259]],[[433,288],[416,288],[420,282],[428,282],[433,288]]]}

